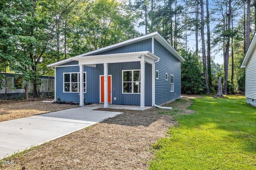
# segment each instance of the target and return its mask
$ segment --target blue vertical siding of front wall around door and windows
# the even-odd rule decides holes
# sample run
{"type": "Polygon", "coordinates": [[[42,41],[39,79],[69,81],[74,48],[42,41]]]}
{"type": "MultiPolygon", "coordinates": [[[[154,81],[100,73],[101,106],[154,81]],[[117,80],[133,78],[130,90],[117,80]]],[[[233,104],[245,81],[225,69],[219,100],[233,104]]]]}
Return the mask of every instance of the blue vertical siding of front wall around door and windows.
{"type": "MultiPolygon", "coordinates": [[[[140,62],[113,63],[108,65],[108,74],[112,75],[112,104],[140,105],[140,94],[122,94],[122,70],[140,69],[140,62]],[[117,100],[114,100],[114,97],[117,100]]],[[[145,105],[152,105],[152,65],[145,64],[145,105]]],[[[86,93],[89,103],[100,102],[100,75],[104,74],[103,64],[96,68],[84,66],[86,72],[86,93]]],[[[63,92],[63,73],[79,72],[79,66],[56,67],[56,98],[63,102],[79,102],[79,93],[63,92]]]]}

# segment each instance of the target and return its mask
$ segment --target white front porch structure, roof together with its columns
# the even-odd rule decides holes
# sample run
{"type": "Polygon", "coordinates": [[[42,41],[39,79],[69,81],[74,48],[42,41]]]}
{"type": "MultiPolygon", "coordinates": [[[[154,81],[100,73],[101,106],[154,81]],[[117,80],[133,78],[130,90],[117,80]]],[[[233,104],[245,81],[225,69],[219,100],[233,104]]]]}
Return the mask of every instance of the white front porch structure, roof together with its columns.
{"type": "MultiPolygon", "coordinates": [[[[70,58],[73,61],[78,61],[80,82],[84,80],[84,66],[96,67],[96,64],[104,65],[104,108],[109,107],[108,102],[108,76],[109,68],[108,64],[111,63],[128,63],[128,62],[140,62],[140,106],[141,110],[145,109],[145,63],[152,65],[152,104],[154,103],[154,63],[159,60],[159,57],[151,53],[150,51],[140,51],[131,53],[116,53],[116,54],[104,54],[104,55],[92,55],[92,56],[77,56],[70,58]]],[[[84,83],[80,83],[80,89],[84,89],[84,83]]],[[[88,89],[89,90],[89,89],[88,89]]],[[[84,92],[80,90],[80,106],[84,106],[84,92]]],[[[111,96],[112,98],[112,96],[111,96]]]]}

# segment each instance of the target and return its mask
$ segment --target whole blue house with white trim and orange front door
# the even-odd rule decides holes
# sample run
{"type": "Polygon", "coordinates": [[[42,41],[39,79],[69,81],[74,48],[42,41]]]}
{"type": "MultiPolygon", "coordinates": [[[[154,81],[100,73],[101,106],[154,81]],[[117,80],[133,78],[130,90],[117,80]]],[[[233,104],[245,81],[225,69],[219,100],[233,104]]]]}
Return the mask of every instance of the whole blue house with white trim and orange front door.
{"type": "Polygon", "coordinates": [[[139,105],[180,98],[184,59],[157,31],[62,60],[55,69],[55,100],[139,105]],[[82,90],[81,90],[82,89],[82,90]]]}

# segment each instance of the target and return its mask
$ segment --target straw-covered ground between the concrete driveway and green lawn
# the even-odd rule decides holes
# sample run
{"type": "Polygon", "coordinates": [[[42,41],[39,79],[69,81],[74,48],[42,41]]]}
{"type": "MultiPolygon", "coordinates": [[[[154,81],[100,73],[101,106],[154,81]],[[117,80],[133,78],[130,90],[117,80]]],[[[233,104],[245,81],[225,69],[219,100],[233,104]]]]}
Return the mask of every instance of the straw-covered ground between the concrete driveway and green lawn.
{"type": "MultiPolygon", "coordinates": [[[[189,98],[166,106],[190,114],[189,98]]],[[[144,170],[154,157],[153,144],[164,137],[168,128],[177,123],[170,115],[160,115],[167,109],[151,108],[144,111],[101,109],[124,112],[35,147],[4,160],[13,164],[0,169],[85,169],[85,170],[144,170]],[[153,146],[153,147],[152,147],[153,146]]]]}

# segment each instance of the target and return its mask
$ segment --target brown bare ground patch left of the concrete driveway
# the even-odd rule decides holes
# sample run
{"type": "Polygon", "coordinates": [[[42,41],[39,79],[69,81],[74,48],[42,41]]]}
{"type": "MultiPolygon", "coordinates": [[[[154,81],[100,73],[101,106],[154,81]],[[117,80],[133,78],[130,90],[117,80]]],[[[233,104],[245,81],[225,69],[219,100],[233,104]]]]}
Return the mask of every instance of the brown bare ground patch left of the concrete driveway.
{"type": "Polygon", "coordinates": [[[42,113],[79,107],[70,104],[52,104],[38,101],[9,101],[0,103],[0,121],[8,121],[22,117],[29,117],[42,113]]]}

